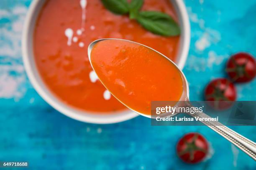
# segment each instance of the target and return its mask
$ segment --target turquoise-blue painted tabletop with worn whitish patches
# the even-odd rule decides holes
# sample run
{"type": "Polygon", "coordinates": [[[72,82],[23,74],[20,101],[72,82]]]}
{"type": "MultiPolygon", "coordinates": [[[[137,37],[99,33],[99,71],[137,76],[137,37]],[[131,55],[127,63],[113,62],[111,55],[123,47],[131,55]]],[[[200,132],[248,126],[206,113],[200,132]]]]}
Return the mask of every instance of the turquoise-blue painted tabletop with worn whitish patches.
{"type": "MultiPolygon", "coordinates": [[[[152,127],[136,117],[112,125],[95,125],[66,117],[50,107],[31,86],[23,68],[21,27],[30,0],[0,2],[0,160],[25,160],[31,169],[246,169],[255,162],[207,127],[152,127]],[[200,132],[212,156],[187,165],[175,153],[177,140],[200,132]],[[235,149],[236,152],[236,149],[235,149]]],[[[184,67],[192,100],[212,78],[225,77],[230,54],[256,56],[256,0],[185,0],[191,21],[191,47],[184,67]]],[[[256,80],[238,85],[238,100],[256,100],[256,80]]],[[[256,128],[232,127],[256,141],[256,128]]],[[[21,168],[22,169],[22,168],[21,168]]]]}

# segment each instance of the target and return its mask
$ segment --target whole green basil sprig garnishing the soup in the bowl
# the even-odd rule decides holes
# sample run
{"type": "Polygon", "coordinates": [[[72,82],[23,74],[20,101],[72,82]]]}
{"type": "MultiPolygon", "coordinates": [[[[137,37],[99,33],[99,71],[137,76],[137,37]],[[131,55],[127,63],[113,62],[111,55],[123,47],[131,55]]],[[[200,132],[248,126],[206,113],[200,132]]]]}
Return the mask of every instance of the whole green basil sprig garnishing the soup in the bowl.
{"type": "Polygon", "coordinates": [[[103,5],[113,13],[128,14],[146,30],[162,36],[177,36],[180,34],[179,25],[171,16],[157,11],[141,11],[143,0],[101,0],[103,5]]]}

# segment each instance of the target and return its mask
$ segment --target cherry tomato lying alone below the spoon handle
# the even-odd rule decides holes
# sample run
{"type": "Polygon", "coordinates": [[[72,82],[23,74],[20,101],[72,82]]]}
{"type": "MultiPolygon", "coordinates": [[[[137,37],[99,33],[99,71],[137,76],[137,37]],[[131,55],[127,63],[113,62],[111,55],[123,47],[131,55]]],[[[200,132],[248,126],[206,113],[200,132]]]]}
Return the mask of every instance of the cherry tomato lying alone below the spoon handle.
{"type": "Polygon", "coordinates": [[[185,163],[201,162],[208,151],[208,142],[199,133],[187,133],[177,143],[177,154],[185,163]]]}

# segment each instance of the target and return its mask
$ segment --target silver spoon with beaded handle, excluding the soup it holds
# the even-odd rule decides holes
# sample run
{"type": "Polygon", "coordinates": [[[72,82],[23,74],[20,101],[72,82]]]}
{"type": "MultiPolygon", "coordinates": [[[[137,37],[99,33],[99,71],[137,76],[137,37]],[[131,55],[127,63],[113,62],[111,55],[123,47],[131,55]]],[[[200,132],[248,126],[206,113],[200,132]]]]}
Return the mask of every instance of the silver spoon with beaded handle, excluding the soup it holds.
{"type": "MultiPolygon", "coordinates": [[[[90,43],[90,45],[88,47],[88,57],[89,57],[91,65],[92,65],[92,62],[91,62],[91,51],[92,51],[92,48],[95,46],[95,44],[97,44],[100,41],[104,41],[104,40],[122,40],[122,39],[106,38],[106,39],[95,40],[92,43],[90,43]]],[[[140,43],[129,41],[129,40],[123,40],[123,41],[128,41],[128,42],[136,43],[138,45],[142,45],[140,43]]],[[[142,46],[147,47],[146,45],[142,45],[142,46]]],[[[147,48],[157,52],[156,50],[154,50],[154,49],[152,49],[150,47],[147,47],[147,48]]],[[[160,52],[157,52],[157,53],[159,53],[161,56],[165,57],[167,60],[172,62],[172,64],[175,67],[177,67],[177,70],[179,70],[180,75],[182,76],[183,92],[182,92],[182,95],[181,95],[181,97],[179,99],[179,101],[182,101],[182,103],[183,103],[182,107],[193,107],[191,105],[191,103],[189,102],[189,86],[188,86],[187,79],[186,79],[185,75],[183,74],[182,70],[180,70],[179,67],[172,60],[170,60],[168,57],[164,56],[160,52]],[[184,103],[185,103],[185,106],[184,106],[184,103]]],[[[93,66],[92,66],[92,68],[93,68],[93,66]]],[[[96,74],[97,74],[97,72],[96,72],[96,74]]],[[[99,78],[99,80],[100,80],[100,78],[99,78]]],[[[103,82],[102,82],[102,84],[104,85],[103,82]]],[[[115,94],[113,94],[113,95],[115,96],[115,94]]],[[[118,97],[116,97],[116,98],[118,99],[118,97]]],[[[122,102],[122,101],[120,101],[120,102],[122,102]]],[[[125,105],[125,103],[123,103],[123,104],[125,105]]],[[[178,102],[177,105],[181,105],[181,102],[178,102]]],[[[125,105],[125,106],[128,107],[127,105],[125,105]]],[[[130,107],[128,107],[128,108],[131,109],[133,112],[138,113],[139,115],[143,115],[145,117],[150,117],[150,118],[156,118],[154,116],[150,116],[150,115],[143,114],[142,112],[138,112],[137,110],[134,110],[134,109],[132,109],[130,107]]],[[[171,115],[168,115],[168,116],[174,116],[174,115],[177,115],[178,113],[179,112],[175,112],[174,114],[172,113],[171,115]]],[[[243,137],[239,133],[236,133],[235,131],[231,130],[230,128],[226,127],[225,125],[221,124],[218,121],[205,121],[205,118],[210,118],[210,116],[206,115],[203,112],[195,112],[194,114],[189,114],[189,115],[191,115],[192,117],[201,117],[201,118],[203,118],[204,121],[201,121],[203,124],[205,124],[207,127],[211,128],[216,133],[218,133],[221,136],[223,136],[225,139],[227,139],[228,141],[233,143],[233,145],[236,145],[243,152],[245,152],[251,158],[256,160],[256,143],[254,143],[253,141],[243,137]]]]}

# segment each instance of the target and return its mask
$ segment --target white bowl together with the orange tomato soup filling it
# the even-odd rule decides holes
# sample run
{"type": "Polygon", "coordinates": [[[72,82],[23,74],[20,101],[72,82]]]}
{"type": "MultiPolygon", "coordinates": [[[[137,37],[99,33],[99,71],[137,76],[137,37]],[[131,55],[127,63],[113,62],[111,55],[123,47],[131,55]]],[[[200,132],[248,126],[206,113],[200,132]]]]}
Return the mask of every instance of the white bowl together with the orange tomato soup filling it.
{"type": "Polygon", "coordinates": [[[145,0],[142,10],[170,15],[181,35],[155,35],[128,15],[116,15],[100,0],[36,0],[23,32],[23,60],[37,92],[56,110],[77,120],[113,123],[137,114],[126,109],[98,80],[87,56],[90,42],[123,38],[163,53],[183,67],[189,21],[179,0],[145,0]]]}

